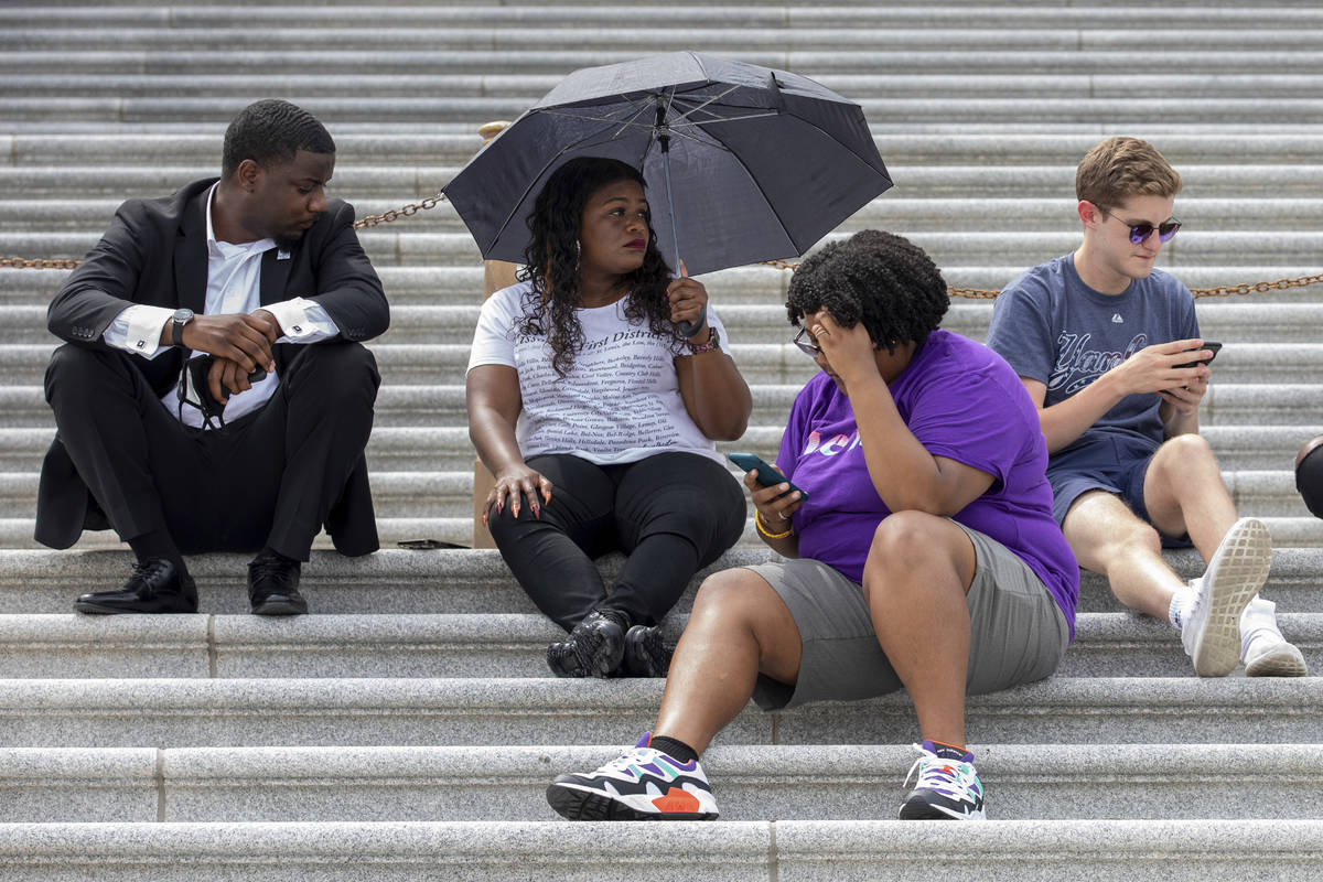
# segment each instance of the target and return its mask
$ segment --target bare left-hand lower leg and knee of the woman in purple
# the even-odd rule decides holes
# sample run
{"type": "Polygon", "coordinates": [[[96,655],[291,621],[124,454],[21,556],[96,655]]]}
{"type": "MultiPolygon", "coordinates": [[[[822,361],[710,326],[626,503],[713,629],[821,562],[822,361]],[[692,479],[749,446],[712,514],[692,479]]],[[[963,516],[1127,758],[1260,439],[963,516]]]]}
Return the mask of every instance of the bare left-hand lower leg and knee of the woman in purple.
{"type": "Polygon", "coordinates": [[[708,577],[667,674],[654,727],[699,754],[753,696],[758,673],[792,684],[799,629],[781,595],[753,570],[708,577]]]}

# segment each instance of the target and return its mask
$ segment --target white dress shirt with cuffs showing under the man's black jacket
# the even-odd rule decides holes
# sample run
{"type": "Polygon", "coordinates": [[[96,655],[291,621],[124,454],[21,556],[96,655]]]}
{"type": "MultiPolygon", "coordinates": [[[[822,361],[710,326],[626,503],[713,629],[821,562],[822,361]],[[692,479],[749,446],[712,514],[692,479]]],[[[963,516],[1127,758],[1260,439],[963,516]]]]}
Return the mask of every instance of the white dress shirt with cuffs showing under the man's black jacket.
{"type": "MultiPolygon", "coordinates": [[[[243,245],[218,242],[212,226],[212,197],[216,185],[206,193],[206,305],[204,315],[249,313],[262,308],[275,316],[284,336],[277,342],[316,342],[340,333],[321,304],[306,298],[262,305],[262,255],[277,247],[274,239],[261,239],[243,245]]],[[[277,254],[278,261],[288,259],[287,251],[277,254]]],[[[173,321],[175,311],[134,304],[115,316],[102,339],[111,346],[124,349],[143,358],[155,358],[171,346],[160,345],[161,332],[173,321]]],[[[194,352],[192,357],[204,353],[194,352]]],[[[250,414],[275,394],[280,385],[275,372],[253,383],[253,389],[230,397],[225,405],[225,422],[250,414]]],[[[202,428],[202,414],[196,407],[180,406],[179,386],[161,395],[165,409],[184,424],[202,428]]]]}

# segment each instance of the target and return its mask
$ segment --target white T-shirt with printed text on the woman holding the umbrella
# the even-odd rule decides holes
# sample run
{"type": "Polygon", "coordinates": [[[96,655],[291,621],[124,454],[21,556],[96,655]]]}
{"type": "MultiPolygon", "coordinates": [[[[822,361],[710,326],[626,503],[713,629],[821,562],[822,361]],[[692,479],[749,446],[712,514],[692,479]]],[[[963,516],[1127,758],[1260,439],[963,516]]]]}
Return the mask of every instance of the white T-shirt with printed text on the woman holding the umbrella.
{"type": "MultiPolygon", "coordinates": [[[[626,298],[576,309],[583,346],[561,377],[552,368],[545,336],[517,331],[529,287],[520,282],[487,299],[468,357],[468,370],[505,365],[519,372],[523,411],[515,434],[525,460],[570,454],[610,465],[689,452],[724,463],[684,407],[671,339],[655,336],[646,320],[631,324],[624,317],[626,298]]],[[[725,348],[725,327],[710,304],[708,324],[725,348]]]]}

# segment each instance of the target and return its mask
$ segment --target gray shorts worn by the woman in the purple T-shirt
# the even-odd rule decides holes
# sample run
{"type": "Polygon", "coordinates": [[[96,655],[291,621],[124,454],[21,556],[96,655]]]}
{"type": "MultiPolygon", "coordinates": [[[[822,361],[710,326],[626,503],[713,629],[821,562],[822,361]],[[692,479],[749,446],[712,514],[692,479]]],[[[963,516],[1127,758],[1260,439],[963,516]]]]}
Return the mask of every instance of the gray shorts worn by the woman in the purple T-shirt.
{"type": "MultiPolygon", "coordinates": [[[[966,595],[970,666],[966,692],[978,696],[1043,680],[1057,669],[1070,640],[1065,614],[1043,581],[996,540],[957,524],[974,542],[976,567],[966,595]]],[[[873,632],[863,588],[818,561],[747,567],[790,608],[803,655],[799,680],[762,674],[753,698],[763,710],[812,701],[857,701],[902,688],[873,632]]]]}

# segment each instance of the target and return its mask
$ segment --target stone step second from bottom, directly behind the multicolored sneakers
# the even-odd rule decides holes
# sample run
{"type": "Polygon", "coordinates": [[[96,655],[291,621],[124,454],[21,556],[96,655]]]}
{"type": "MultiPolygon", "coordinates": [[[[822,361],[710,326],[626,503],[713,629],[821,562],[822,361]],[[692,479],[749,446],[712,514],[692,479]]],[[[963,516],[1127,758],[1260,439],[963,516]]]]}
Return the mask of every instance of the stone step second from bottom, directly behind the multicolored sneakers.
{"type": "MultiPolygon", "coordinates": [[[[1163,820],[1172,804],[1207,819],[1319,817],[1289,788],[1263,788],[1283,767],[1318,785],[1312,744],[974,744],[988,812],[1000,822],[1056,819],[1163,820]],[[1217,774],[1211,774],[1216,768],[1217,774]]],[[[594,768],[614,746],[545,747],[165,747],[0,750],[0,825],[30,822],[242,824],[544,821],[546,783],[594,768]],[[372,805],[364,817],[363,807],[372,805]]],[[[704,768],[721,817],[872,820],[904,791],[876,768],[905,768],[908,746],[717,744],[704,768]]],[[[0,826],[3,841],[4,826],[0,826]]]]}

